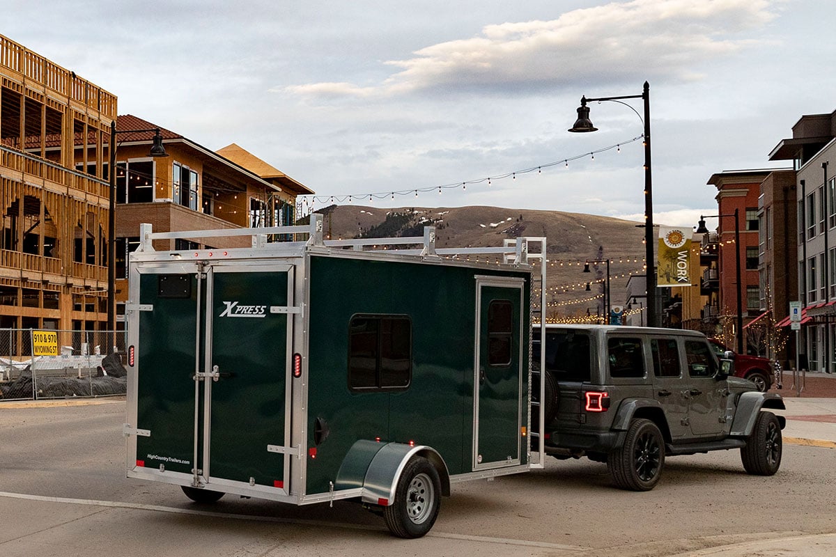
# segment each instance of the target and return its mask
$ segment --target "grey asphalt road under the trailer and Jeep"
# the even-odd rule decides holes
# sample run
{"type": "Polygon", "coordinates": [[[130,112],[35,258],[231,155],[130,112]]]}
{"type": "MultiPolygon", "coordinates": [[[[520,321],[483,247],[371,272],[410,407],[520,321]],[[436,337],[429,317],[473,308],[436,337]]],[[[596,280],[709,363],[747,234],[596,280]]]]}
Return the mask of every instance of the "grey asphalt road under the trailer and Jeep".
{"type": "Polygon", "coordinates": [[[395,539],[359,505],[305,507],[226,496],[192,504],[176,486],[125,479],[125,403],[0,408],[0,554],[672,555],[836,532],[836,449],[785,444],[772,478],[738,451],[668,459],[648,493],[614,489],[604,464],[456,484],[434,529],[395,539]]]}

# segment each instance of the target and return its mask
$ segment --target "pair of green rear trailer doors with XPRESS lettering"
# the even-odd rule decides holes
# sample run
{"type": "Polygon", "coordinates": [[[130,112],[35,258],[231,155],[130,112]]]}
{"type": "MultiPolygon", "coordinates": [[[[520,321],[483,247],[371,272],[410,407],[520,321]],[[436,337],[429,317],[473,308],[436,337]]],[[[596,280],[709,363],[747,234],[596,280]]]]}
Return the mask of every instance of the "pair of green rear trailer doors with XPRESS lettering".
{"type": "Polygon", "coordinates": [[[216,491],[289,493],[292,269],[140,269],[136,427],[148,434],[137,467],[216,491]]]}

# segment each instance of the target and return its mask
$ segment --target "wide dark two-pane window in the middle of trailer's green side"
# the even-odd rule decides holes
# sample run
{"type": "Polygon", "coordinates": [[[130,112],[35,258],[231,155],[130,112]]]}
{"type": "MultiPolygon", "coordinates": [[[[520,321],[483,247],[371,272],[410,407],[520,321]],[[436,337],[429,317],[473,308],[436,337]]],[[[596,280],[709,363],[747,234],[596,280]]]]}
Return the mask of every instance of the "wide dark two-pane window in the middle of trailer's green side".
{"type": "Polygon", "coordinates": [[[402,390],[412,377],[412,323],[405,316],[354,316],[349,323],[349,388],[402,390]]]}

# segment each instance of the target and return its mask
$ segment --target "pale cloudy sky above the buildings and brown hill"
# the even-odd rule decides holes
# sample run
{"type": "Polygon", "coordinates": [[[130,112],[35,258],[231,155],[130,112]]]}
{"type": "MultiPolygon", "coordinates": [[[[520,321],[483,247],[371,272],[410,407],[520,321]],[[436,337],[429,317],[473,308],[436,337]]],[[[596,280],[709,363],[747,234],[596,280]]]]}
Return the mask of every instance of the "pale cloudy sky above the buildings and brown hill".
{"type": "Polygon", "coordinates": [[[836,109],[822,0],[0,6],[0,33],[116,94],[120,114],[240,144],[315,190],[315,208],[354,195],[642,220],[637,114],[595,103],[598,132],[567,129],[581,95],[647,80],[655,221],[694,225],[716,211],[712,174],[776,166],[802,114],[836,109]]]}

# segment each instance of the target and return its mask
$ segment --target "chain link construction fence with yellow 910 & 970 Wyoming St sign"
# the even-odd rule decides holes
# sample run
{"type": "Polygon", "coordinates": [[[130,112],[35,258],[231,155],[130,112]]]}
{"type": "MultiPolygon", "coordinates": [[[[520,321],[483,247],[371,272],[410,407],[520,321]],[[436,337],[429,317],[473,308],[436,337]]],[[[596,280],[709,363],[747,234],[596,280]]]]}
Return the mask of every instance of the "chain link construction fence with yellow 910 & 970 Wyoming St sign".
{"type": "Polygon", "coordinates": [[[0,329],[0,399],[126,392],[125,331],[0,329]]]}

